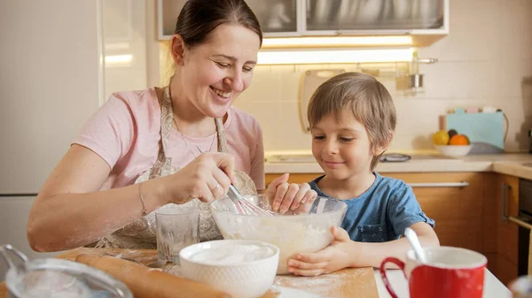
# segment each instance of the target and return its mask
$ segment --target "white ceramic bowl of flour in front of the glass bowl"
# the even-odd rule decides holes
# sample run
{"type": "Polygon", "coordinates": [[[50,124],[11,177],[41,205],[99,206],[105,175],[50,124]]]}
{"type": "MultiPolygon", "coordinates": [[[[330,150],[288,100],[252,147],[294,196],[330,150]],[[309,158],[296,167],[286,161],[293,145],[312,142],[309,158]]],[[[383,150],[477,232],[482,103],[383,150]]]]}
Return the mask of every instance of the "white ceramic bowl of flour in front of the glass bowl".
{"type": "Polygon", "coordinates": [[[207,241],[179,253],[186,279],[219,289],[234,298],[261,297],[273,285],[279,248],[263,241],[207,241]]]}

